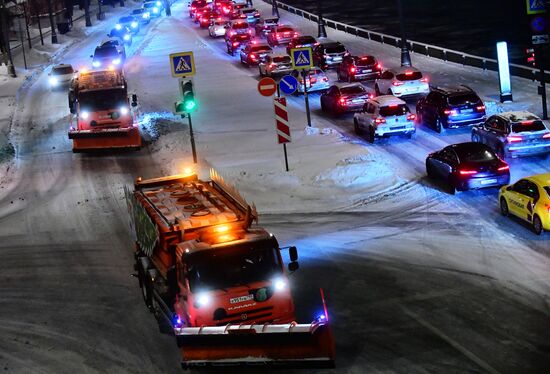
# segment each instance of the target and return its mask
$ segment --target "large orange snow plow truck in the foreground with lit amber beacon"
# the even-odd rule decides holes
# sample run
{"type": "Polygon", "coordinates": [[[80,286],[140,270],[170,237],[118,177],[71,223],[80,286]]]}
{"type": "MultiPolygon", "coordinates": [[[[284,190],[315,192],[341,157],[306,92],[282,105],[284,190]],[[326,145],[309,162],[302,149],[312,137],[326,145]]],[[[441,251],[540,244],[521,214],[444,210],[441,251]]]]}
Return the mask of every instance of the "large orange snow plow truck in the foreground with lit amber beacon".
{"type": "MultiPolygon", "coordinates": [[[[294,322],[275,237],[216,172],[141,180],[126,197],[146,306],[176,337],[182,366],[333,367],[326,312],[294,322]]],[[[289,271],[298,269],[289,247],[289,271]]],[[[326,310],[326,309],[325,309],[326,310]]]]}

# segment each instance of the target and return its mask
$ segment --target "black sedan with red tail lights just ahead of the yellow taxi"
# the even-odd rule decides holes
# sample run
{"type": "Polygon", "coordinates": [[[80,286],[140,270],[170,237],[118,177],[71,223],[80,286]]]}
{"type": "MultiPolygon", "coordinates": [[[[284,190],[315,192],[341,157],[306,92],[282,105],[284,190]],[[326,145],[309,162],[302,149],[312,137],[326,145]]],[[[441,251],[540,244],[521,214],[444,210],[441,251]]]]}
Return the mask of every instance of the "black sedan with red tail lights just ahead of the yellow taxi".
{"type": "Polygon", "coordinates": [[[510,182],[510,167],[495,152],[481,143],[451,144],[430,153],[426,173],[443,181],[449,192],[485,187],[500,187],[510,182]]]}

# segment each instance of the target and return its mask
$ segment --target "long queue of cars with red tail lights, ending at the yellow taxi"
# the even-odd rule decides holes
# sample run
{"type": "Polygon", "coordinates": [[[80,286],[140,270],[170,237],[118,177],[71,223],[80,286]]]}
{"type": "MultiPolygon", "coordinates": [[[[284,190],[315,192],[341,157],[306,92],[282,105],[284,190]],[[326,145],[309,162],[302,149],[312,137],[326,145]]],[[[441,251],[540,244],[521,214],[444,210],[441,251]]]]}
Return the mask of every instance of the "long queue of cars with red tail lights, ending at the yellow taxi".
{"type": "Polygon", "coordinates": [[[227,52],[238,55],[244,66],[257,67],[260,77],[296,77],[300,82],[296,94],[304,93],[304,78],[293,70],[290,51],[310,47],[315,66],[307,73],[305,89],[320,93],[323,112],[353,113],[353,130],[368,143],[392,136],[411,139],[420,125],[439,134],[470,127],[471,142],[427,155],[427,176],[441,181],[452,194],[502,187],[507,192],[500,193],[502,214],[525,219],[537,234],[550,230],[550,174],[533,177],[540,182],[537,188],[530,183],[536,194],[521,192],[517,184],[524,185],[527,179],[509,185],[510,166],[505,161],[550,153],[550,129],[538,116],[524,111],[487,116],[483,100],[467,85],[430,84],[429,77],[414,66],[385,69],[376,56],[354,55],[339,41],[303,35],[279,18],[247,7],[247,2],[238,3],[195,0],[189,5],[189,16],[207,27],[211,38],[223,37],[227,52]],[[337,82],[331,81],[328,70],[336,71],[337,82]],[[372,88],[365,85],[369,81],[372,88]],[[411,99],[416,99],[414,112],[409,108],[411,99]],[[516,189],[523,199],[512,203],[516,189]],[[510,204],[514,209],[506,208],[510,204]]]}

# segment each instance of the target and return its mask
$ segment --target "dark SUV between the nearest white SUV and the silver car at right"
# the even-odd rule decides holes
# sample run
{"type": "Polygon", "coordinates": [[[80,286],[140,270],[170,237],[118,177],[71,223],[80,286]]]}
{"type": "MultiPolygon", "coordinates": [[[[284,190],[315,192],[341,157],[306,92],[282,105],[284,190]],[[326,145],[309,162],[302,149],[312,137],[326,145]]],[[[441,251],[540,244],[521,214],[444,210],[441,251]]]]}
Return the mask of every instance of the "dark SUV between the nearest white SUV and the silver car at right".
{"type": "Polygon", "coordinates": [[[416,104],[418,123],[424,123],[435,131],[483,123],[485,105],[468,86],[435,87],[416,104]]]}

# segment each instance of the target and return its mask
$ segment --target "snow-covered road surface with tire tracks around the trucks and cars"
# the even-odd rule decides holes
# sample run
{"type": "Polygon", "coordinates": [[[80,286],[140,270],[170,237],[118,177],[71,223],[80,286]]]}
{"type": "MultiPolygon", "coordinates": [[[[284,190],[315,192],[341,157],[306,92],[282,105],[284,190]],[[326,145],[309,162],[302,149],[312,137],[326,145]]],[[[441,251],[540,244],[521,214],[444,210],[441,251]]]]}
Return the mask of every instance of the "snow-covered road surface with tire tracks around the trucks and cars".
{"type": "MultiPolygon", "coordinates": [[[[542,373],[550,366],[548,235],[536,237],[501,217],[495,190],[449,196],[424,177],[426,154],[468,140],[468,132],[420,129],[413,141],[368,145],[352,135],[349,116],[324,116],[312,96],[314,124],[341,135],[305,135],[302,99],[291,98],[295,138],[285,174],[271,100],[256,92],[257,70],[228,56],[186,10],[176,3],[172,17],[153,21],[131,48],[128,84],[155,139],[140,152],[74,155],[66,95],[50,93],[44,74],[24,95],[13,134],[16,169],[0,183],[6,372],[179,372],[173,338],[159,333],[129,276],[122,188],[137,175],[180,171],[190,161],[187,126],[169,114],[177,85],[167,55],[185,50],[195,52],[198,65],[201,102],[193,119],[200,171],[217,168],[257,203],[261,225],[282,245],[298,246],[301,268],[291,276],[298,316],[309,321],[319,312],[323,287],[336,372],[542,373]]],[[[315,35],[314,24],[281,15],[315,35]]],[[[64,61],[89,62],[107,31],[84,39],[64,61]]],[[[354,51],[372,51],[386,66],[398,64],[395,48],[329,33],[354,51]]],[[[459,77],[484,99],[494,97],[493,73],[413,59],[432,82],[459,77]]],[[[535,85],[513,84],[513,105],[536,112],[539,102],[529,96],[535,85]]],[[[548,166],[547,158],[514,160],[512,179],[548,166]]]]}

